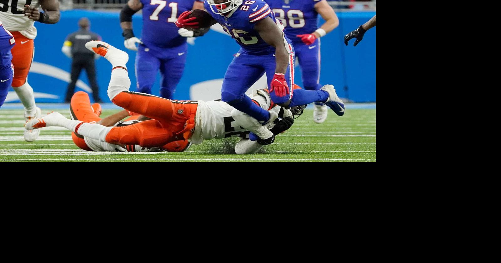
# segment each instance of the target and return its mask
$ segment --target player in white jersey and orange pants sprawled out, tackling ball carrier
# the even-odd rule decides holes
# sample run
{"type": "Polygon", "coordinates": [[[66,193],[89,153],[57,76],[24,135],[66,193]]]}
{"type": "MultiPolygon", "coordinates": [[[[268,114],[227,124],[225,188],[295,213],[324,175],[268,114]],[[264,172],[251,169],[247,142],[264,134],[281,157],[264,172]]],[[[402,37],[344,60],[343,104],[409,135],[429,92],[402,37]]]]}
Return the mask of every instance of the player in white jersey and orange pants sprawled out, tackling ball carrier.
{"type": "MultiPolygon", "coordinates": [[[[239,147],[241,145],[245,146],[241,146],[239,150],[235,151],[237,153],[253,153],[261,148],[258,144],[266,145],[268,143],[262,139],[250,142],[247,139],[249,131],[244,127],[258,127],[253,131],[256,131],[259,137],[273,136],[275,138],[275,135],[291,127],[293,114],[300,115],[304,107],[306,107],[306,105],[294,107],[292,108],[293,111],[283,109],[273,103],[268,90],[256,90],[251,101],[262,109],[269,110],[272,115],[276,116],[275,119],[279,115],[283,118],[281,121],[273,122],[265,127],[256,119],[220,100],[208,102],[175,101],[144,93],[130,92],[130,80],[125,67],[128,60],[127,53],[100,41],[92,41],[87,45],[90,50],[105,57],[112,63],[113,70],[108,95],[113,103],[127,111],[142,114],[150,118],[150,120],[135,122],[133,125],[128,126],[107,127],[101,125],[102,122],[98,124],[81,120],[68,120],[55,112],[28,122],[25,126],[26,129],[60,126],[66,127],[75,134],[84,136],[84,138],[89,137],[116,145],[139,145],[144,148],[161,147],[171,142],[188,139],[194,144],[200,144],[204,139],[240,137],[243,140],[239,142],[239,147]]],[[[90,105],[87,100],[85,100],[84,104],[90,105]]],[[[72,108],[71,112],[72,116],[75,116],[74,119],[79,118],[75,112],[79,112],[83,116],[85,114],[92,115],[91,108],[86,107],[84,104],[75,104],[79,111],[72,108]],[[80,109],[84,109],[84,111],[82,112],[80,109]]],[[[124,116],[125,112],[118,113],[117,118],[123,118],[124,116]]],[[[84,118],[85,120],[91,120],[89,117],[84,118]]],[[[97,121],[102,120],[94,118],[94,122],[97,121]]]]}

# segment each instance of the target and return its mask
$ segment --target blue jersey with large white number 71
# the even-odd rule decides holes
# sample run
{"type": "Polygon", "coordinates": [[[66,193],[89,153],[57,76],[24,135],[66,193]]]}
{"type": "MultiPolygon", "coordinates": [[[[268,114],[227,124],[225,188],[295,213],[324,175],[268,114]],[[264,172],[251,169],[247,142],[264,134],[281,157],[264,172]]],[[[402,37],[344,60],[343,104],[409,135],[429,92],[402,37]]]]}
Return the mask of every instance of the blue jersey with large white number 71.
{"type": "MultiPolygon", "coordinates": [[[[196,0],[202,2],[201,0],[196,0]]],[[[172,48],[186,43],[174,24],[179,15],[193,9],[195,0],[141,0],[143,4],[143,33],[146,46],[172,48]]]]}

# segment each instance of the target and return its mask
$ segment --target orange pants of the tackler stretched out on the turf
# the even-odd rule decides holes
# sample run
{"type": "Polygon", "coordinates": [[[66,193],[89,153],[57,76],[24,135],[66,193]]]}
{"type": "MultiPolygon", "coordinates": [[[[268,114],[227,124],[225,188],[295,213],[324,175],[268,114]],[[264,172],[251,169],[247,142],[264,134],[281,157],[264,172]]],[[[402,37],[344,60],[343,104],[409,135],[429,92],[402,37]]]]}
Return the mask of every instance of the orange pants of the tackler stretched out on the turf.
{"type": "Polygon", "coordinates": [[[184,141],[193,134],[198,106],[195,101],[172,101],[148,94],[121,92],[113,98],[113,103],[153,120],[113,128],[106,136],[109,143],[159,147],[184,141]]]}

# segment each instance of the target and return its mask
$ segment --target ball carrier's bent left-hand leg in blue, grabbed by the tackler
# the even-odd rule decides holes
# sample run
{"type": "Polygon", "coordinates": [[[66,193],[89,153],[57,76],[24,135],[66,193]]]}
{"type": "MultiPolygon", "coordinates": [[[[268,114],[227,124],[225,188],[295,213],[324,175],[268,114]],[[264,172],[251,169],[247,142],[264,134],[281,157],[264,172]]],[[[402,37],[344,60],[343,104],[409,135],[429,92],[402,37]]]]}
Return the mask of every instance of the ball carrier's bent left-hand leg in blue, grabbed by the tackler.
{"type": "Polygon", "coordinates": [[[262,59],[256,57],[260,56],[240,54],[238,57],[233,58],[224,75],[221,99],[233,108],[247,113],[258,121],[267,122],[270,119],[270,113],[254,104],[245,95],[245,91],[264,73],[263,67],[254,65],[257,60],[262,59]]]}

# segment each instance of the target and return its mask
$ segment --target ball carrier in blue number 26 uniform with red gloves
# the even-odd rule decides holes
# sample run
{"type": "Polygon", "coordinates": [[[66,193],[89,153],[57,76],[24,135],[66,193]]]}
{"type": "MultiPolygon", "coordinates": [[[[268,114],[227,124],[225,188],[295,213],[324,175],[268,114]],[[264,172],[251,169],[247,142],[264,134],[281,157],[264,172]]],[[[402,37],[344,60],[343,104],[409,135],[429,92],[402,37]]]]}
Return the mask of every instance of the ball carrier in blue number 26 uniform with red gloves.
{"type": "MultiPolygon", "coordinates": [[[[284,26],[263,0],[207,0],[205,10],[212,17],[211,24],[219,23],[240,50],[224,75],[221,98],[235,109],[267,125],[274,121],[270,113],[254,104],[245,91],[264,73],[268,78],[270,96],[282,107],[294,107],[313,102],[326,103],[338,115],[344,114],[344,103],[334,89],[298,89],[294,92],[294,48],[284,35],[284,26]]],[[[197,18],[188,18],[189,12],[179,16],[176,26],[197,29],[197,18]]],[[[261,139],[273,142],[272,137],[261,139]]]]}

